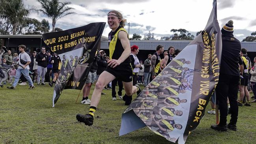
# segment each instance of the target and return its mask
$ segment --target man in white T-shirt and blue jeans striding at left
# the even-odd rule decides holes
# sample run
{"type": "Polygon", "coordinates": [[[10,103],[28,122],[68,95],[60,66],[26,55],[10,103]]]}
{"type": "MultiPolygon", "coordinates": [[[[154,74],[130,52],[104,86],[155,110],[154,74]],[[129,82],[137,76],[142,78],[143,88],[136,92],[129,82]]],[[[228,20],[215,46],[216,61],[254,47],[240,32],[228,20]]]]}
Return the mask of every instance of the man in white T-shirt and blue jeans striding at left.
{"type": "Polygon", "coordinates": [[[15,80],[13,82],[13,85],[10,86],[10,87],[7,87],[8,89],[15,89],[16,85],[19,82],[21,74],[23,74],[23,76],[27,79],[27,81],[29,83],[29,86],[30,86],[29,89],[34,89],[35,88],[35,86],[33,85],[32,79],[28,75],[28,70],[30,69],[29,64],[31,63],[31,59],[30,59],[30,56],[25,52],[25,50],[26,50],[25,45],[19,45],[19,51],[20,51],[19,67],[16,71],[16,76],[15,76],[15,80]],[[21,60],[23,60],[23,62],[20,62],[21,60]]]}

